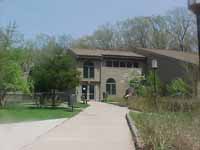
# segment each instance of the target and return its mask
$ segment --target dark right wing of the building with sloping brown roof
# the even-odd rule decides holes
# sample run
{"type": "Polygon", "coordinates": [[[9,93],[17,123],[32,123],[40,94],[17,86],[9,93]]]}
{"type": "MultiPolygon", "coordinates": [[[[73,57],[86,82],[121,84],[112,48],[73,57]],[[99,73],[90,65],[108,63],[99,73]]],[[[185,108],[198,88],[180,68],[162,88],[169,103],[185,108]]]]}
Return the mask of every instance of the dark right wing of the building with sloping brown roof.
{"type": "Polygon", "coordinates": [[[131,51],[146,57],[146,72],[151,70],[152,59],[156,59],[159,64],[157,73],[163,83],[168,84],[172,80],[183,78],[191,85],[193,94],[200,96],[197,53],[148,48],[135,48],[131,51]]]}

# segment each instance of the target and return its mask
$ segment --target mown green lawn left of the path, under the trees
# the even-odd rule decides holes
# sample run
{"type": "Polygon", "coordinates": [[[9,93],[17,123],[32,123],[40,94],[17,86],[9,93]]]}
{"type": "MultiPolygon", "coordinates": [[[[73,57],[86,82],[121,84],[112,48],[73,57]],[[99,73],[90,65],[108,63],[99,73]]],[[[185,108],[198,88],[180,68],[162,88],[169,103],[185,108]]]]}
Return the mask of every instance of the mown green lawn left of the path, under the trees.
{"type": "Polygon", "coordinates": [[[77,104],[74,112],[72,112],[71,108],[10,107],[0,109],[0,123],[70,118],[86,107],[88,105],[77,104]]]}

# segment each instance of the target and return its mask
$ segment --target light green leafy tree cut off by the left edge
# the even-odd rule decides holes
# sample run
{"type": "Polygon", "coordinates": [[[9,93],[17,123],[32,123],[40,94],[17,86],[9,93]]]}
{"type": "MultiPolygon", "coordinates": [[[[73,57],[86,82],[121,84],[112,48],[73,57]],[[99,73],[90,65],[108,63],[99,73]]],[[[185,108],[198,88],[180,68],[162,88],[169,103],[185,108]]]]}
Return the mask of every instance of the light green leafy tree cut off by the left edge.
{"type": "Polygon", "coordinates": [[[12,57],[7,51],[0,51],[0,107],[6,104],[7,92],[29,92],[29,84],[21,66],[12,57]]]}

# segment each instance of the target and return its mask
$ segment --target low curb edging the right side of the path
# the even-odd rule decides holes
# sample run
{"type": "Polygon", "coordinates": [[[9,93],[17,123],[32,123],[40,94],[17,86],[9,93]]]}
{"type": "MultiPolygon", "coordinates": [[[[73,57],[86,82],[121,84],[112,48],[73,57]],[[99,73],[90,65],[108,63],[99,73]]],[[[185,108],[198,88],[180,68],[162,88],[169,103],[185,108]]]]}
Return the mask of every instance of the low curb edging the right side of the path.
{"type": "Polygon", "coordinates": [[[144,150],[144,142],[135,126],[134,121],[131,119],[129,113],[126,114],[126,120],[131,131],[132,138],[134,140],[136,150],[144,150]]]}

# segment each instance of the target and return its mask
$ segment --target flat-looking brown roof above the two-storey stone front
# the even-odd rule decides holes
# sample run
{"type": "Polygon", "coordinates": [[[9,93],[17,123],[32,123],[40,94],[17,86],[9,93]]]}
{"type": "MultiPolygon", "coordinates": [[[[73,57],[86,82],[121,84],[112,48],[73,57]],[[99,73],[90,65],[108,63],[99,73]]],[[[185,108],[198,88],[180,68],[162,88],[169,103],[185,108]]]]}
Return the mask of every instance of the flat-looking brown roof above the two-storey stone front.
{"type": "Polygon", "coordinates": [[[119,57],[145,58],[145,56],[124,50],[71,49],[71,51],[78,56],[93,56],[93,57],[119,56],[119,57]]]}

